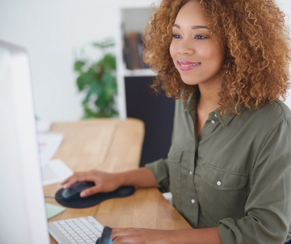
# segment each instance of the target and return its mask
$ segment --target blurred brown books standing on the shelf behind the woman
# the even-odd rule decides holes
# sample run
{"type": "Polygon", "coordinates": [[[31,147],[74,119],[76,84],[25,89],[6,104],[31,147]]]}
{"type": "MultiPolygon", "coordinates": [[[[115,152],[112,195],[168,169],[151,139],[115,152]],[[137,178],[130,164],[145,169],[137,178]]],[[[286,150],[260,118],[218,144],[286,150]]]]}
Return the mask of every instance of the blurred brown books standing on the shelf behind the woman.
{"type": "Polygon", "coordinates": [[[130,32],[124,35],[124,62],[126,68],[130,70],[149,68],[144,63],[142,57],[145,50],[145,45],[142,41],[142,34],[130,32]]]}

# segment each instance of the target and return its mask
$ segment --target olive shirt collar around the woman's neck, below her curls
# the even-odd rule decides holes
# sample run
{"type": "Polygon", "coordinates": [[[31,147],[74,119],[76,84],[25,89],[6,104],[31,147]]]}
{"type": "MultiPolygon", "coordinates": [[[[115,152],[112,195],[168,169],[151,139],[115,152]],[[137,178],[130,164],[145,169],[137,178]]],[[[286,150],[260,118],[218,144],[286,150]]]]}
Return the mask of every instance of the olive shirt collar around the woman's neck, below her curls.
{"type": "MultiPolygon", "coordinates": [[[[188,111],[188,113],[194,118],[196,117],[196,101],[197,101],[197,94],[193,93],[189,96],[188,100],[185,102],[185,112],[188,111]]],[[[225,117],[221,117],[219,113],[219,108],[215,109],[214,113],[217,116],[217,119],[221,123],[223,127],[225,127],[232,119],[234,118],[233,116],[230,116],[229,113],[225,117]]]]}

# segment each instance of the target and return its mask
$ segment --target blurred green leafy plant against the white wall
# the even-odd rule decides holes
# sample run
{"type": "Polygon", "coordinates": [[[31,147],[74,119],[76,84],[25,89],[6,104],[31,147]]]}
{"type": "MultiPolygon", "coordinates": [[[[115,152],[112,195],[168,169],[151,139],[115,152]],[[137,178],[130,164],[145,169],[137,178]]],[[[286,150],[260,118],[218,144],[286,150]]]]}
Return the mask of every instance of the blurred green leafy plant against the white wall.
{"type": "Polygon", "coordinates": [[[91,59],[77,59],[75,71],[78,72],[77,85],[79,91],[85,91],[86,97],[82,104],[83,118],[116,117],[115,97],[117,95],[115,56],[106,53],[114,42],[106,40],[93,43],[94,47],[103,51],[101,60],[92,62],[91,59]]]}

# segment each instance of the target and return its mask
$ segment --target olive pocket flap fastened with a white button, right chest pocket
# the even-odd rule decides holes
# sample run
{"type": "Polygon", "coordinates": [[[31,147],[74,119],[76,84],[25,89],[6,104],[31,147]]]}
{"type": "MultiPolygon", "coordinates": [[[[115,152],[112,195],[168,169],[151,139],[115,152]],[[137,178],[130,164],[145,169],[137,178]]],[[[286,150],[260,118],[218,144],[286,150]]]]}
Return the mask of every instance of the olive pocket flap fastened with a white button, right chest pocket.
{"type": "Polygon", "coordinates": [[[249,174],[236,173],[217,168],[209,163],[202,163],[201,177],[208,184],[219,190],[238,190],[244,188],[249,174]]]}

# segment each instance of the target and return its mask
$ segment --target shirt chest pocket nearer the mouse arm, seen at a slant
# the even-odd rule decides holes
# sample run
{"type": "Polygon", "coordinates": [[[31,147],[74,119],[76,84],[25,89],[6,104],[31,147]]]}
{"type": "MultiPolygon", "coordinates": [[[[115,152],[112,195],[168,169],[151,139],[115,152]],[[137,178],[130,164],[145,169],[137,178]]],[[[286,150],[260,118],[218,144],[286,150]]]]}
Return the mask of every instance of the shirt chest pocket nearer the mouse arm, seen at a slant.
{"type": "Polygon", "coordinates": [[[170,192],[173,195],[174,206],[181,203],[181,158],[183,150],[175,143],[172,144],[167,163],[169,167],[170,192]]]}

